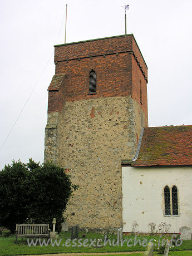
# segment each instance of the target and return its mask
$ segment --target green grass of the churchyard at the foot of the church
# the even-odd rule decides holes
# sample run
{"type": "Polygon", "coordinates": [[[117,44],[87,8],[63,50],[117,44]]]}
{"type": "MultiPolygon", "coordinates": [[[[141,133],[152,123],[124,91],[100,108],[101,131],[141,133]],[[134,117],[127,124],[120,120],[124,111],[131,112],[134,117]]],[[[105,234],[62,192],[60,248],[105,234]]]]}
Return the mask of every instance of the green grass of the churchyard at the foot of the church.
{"type": "MultiPolygon", "coordinates": [[[[79,234],[80,237],[82,237],[82,233],[80,232],[79,234]]],[[[78,247],[76,244],[76,246],[74,243],[70,243],[68,242],[68,244],[66,244],[66,240],[70,239],[71,237],[71,233],[70,232],[63,232],[60,233],[60,237],[59,239],[57,239],[57,243],[60,242],[60,245],[54,245],[52,246],[51,244],[46,245],[42,245],[40,246],[39,243],[37,243],[36,246],[31,245],[31,247],[28,246],[27,244],[27,238],[18,238],[18,244],[14,244],[15,241],[15,237],[14,235],[11,235],[9,237],[0,237],[0,255],[24,255],[24,254],[53,254],[53,253],[101,253],[101,252],[136,252],[136,251],[145,251],[146,247],[142,247],[142,245],[139,245],[139,243],[137,243],[135,246],[132,245],[130,247],[127,247],[127,244],[124,243],[124,245],[121,247],[121,245],[119,246],[110,246],[109,243],[107,243],[107,245],[105,247],[101,247],[101,248],[94,248],[93,245],[91,245],[91,247],[89,246],[90,244],[90,239],[94,240],[96,239],[104,239],[104,237],[102,237],[102,234],[99,233],[87,233],[86,234],[86,238],[83,238],[81,241],[81,243],[83,243],[83,241],[85,241],[85,239],[88,239],[88,242],[86,242],[86,245],[88,245],[87,247],[78,247]],[[61,239],[61,240],[60,240],[61,239]],[[64,244],[64,246],[63,246],[64,244]],[[66,246],[71,244],[71,246],[66,246]]],[[[134,243],[134,238],[135,236],[125,236],[123,237],[123,239],[132,239],[132,241],[130,240],[130,245],[134,243]]],[[[117,235],[110,235],[110,240],[112,242],[112,240],[115,239],[115,243],[116,243],[116,239],[117,239],[117,235]]],[[[148,241],[150,239],[160,239],[159,237],[149,237],[149,236],[137,236],[137,239],[141,240],[141,243],[144,241],[144,239],[147,239],[148,241]]],[[[31,239],[29,239],[31,240],[31,239]]],[[[42,242],[43,239],[41,239],[42,242]]],[[[34,241],[36,241],[36,238],[34,239],[34,241]]],[[[54,242],[54,240],[53,240],[54,242]]],[[[77,243],[77,241],[76,241],[77,243]]],[[[101,242],[102,244],[102,242],[101,242]]],[[[144,244],[147,244],[146,242],[144,244]]],[[[183,241],[183,244],[181,244],[179,247],[174,247],[171,248],[171,252],[169,253],[169,255],[192,255],[192,252],[181,252],[184,250],[192,250],[192,241],[191,240],[185,240],[183,241]],[[173,252],[172,252],[173,250],[173,252]],[[179,251],[179,252],[176,252],[179,251]]],[[[155,247],[155,251],[157,251],[157,245],[155,247]]],[[[131,256],[134,255],[142,255],[143,253],[134,253],[134,254],[130,254],[131,256]]],[[[124,254],[120,254],[121,256],[124,254]]],[[[156,254],[159,255],[159,254],[156,254]]],[[[86,255],[87,256],[87,255],[86,255]]]]}

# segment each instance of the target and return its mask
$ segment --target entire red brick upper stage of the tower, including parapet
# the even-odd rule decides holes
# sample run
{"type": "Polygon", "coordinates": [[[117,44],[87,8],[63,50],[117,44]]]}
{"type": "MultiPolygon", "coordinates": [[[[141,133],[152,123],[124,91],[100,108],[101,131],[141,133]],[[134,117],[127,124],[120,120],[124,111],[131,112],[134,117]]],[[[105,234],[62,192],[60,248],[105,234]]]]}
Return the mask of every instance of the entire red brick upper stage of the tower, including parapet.
{"type": "Polygon", "coordinates": [[[147,113],[147,66],[132,34],[56,45],[55,64],[48,112],[61,111],[64,101],[131,96],[147,113]],[[97,76],[95,94],[88,93],[91,70],[97,76]]]}

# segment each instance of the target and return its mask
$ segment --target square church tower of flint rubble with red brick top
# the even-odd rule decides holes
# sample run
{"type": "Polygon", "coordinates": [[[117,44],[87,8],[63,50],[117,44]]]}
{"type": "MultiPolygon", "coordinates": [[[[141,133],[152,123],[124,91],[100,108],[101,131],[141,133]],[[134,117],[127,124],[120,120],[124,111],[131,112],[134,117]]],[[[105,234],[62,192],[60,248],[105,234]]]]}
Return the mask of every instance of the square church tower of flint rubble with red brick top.
{"type": "MultiPolygon", "coordinates": [[[[67,222],[122,226],[121,160],[135,156],[147,121],[147,66],[133,35],[55,46],[45,161],[79,185],[67,222]]],[[[58,195],[59,196],[59,195],[58,195]]]]}

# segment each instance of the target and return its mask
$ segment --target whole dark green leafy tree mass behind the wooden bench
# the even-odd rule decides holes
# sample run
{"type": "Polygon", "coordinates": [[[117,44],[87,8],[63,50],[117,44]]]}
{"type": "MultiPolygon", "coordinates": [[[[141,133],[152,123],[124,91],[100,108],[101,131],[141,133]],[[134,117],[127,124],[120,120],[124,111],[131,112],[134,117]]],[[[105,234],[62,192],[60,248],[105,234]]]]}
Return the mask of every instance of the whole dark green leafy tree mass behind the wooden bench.
{"type": "Polygon", "coordinates": [[[60,230],[73,189],[77,186],[58,165],[13,161],[0,172],[0,223],[14,232],[17,223],[52,224],[56,218],[60,230]]]}

